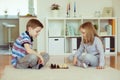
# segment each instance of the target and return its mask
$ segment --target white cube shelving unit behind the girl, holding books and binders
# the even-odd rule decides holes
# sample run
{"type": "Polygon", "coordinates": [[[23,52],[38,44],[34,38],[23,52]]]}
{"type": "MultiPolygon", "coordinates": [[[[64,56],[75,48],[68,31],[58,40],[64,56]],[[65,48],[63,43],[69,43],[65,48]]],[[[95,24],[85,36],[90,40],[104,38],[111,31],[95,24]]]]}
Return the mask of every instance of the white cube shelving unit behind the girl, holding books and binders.
{"type": "Polygon", "coordinates": [[[74,53],[80,45],[81,35],[79,26],[87,21],[97,26],[97,32],[103,39],[104,46],[109,44],[109,47],[105,48],[105,54],[107,56],[115,56],[115,62],[117,62],[117,19],[115,17],[46,18],[46,51],[50,55],[69,55],[74,53]],[[108,25],[110,25],[110,29],[106,27],[108,25]],[[106,38],[109,39],[109,42],[106,41],[106,38]],[[50,42],[50,39],[63,39],[64,41],[56,45],[52,44],[55,43],[55,41],[50,42]],[[54,48],[51,48],[53,46],[54,48]],[[54,53],[52,53],[50,49],[52,49],[54,53]]]}

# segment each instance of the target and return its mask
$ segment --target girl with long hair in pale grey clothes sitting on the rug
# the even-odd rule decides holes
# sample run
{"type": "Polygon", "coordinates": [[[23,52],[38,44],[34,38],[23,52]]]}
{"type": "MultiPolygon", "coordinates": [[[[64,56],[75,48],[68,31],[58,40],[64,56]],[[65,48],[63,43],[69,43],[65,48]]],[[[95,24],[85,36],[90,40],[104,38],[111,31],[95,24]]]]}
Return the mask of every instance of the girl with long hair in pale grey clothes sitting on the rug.
{"type": "Polygon", "coordinates": [[[82,41],[77,52],[69,56],[69,60],[73,61],[74,65],[83,68],[92,66],[103,69],[105,64],[103,44],[94,26],[91,22],[85,22],[79,30],[82,34],[82,41]],[[86,54],[82,55],[84,52],[86,54]]]}

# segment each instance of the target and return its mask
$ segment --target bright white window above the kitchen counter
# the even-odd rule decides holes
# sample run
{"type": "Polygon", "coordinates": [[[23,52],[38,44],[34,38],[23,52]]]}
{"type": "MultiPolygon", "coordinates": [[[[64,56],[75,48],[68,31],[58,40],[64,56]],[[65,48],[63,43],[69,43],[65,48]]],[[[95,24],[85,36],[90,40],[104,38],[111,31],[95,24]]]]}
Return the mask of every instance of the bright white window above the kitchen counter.
{"type": "Polygon", "coordinates": [[[33,2],[34,13],[36,14],[36,0],[0,0],[0,15],[4,15],[7,11],[8,15],[26,15],[29,13],[29,1],[33,2]]]}

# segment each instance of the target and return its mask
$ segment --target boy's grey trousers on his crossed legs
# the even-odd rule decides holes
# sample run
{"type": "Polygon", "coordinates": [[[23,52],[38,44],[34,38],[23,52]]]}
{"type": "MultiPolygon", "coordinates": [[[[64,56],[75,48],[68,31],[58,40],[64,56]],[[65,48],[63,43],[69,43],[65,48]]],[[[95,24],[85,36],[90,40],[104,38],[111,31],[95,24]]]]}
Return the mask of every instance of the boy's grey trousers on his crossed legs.
{"type": "MultiPolygon", "coordinates": [[[[48,62],[49,60],[49,55],[47,53],[41,54],[44,60],[44,65],[48,62]]],[[[43,66],[44,66],[43,65],[43,66]]],[[[18,59],[16,68],[18,69],[39,69],[39,64],[38,64],[38,57],[34,54],[28,54],[23,58],[18,59]]]]}

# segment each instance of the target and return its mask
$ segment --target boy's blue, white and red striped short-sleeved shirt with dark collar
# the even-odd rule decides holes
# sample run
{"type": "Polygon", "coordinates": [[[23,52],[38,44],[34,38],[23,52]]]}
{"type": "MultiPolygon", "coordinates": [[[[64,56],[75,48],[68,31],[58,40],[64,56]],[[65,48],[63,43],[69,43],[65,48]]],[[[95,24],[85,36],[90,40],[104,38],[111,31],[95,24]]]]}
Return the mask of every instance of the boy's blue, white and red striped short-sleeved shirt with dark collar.
{"type": "Polygon", "coordinates": [[[26,31],[22,33],[14,42],[13,48],[12,48],[12,65],[16,66],[17,60],[19,58],[23,58],[25,55],[27,55],[26,49],[24,48],[24,44],[28,43],[30,44],[32,48],[32,42],[33,39],[30,37],[29,33],[26,31]]]}

